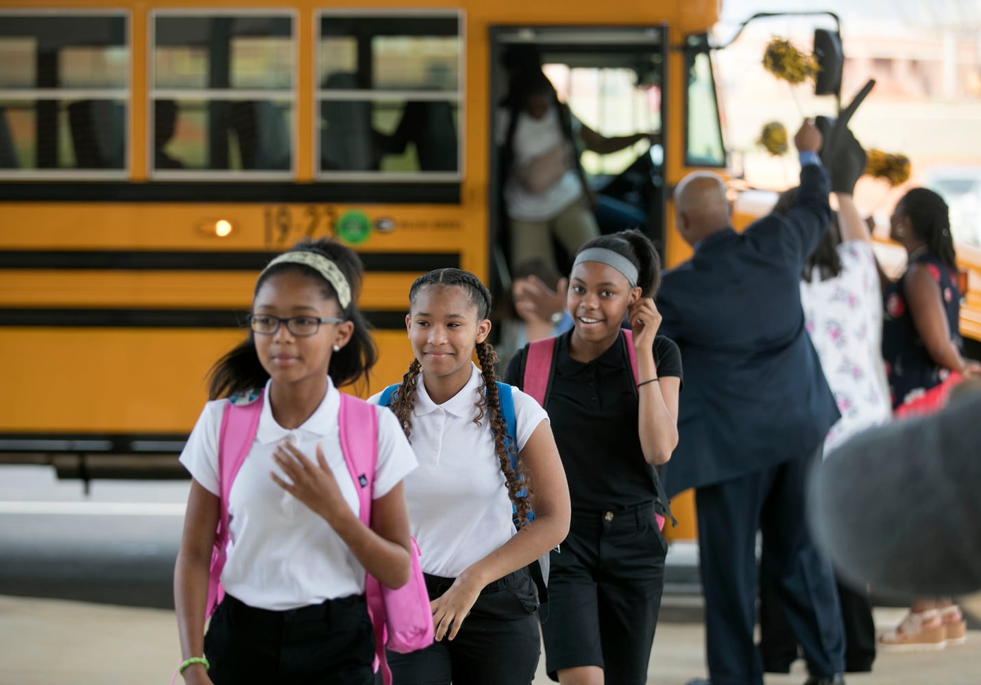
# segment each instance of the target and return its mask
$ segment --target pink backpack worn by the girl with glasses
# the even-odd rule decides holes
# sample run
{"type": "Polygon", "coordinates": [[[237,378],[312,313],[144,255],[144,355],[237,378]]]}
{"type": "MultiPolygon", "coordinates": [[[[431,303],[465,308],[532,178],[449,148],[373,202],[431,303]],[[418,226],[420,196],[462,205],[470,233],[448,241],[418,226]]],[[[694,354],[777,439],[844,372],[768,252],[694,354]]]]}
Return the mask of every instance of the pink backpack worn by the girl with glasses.
{"type": "MultiPolygon", "coordinates": [[[[229,494],[232,482],[248,456],[262,415],[264,391],[250,394],[244,402],[232,398],[222,416],[218,467],[221,480],[221,514],[215,532],[211,572],[208,579],[208,615],[225,596],[221,585],[229,542],[229,494]]],[[[371,525],[372,492],[378,463],[378,409],[364,400],[340,393],[340,447],[344,463],[358,491],[361,521],[371,525]]],[[[419,564],[419,545],[412,540],[412,575],[409,582],[391,590],[371,575],[365,577],[365,598],[375,630],[375,669],[382,669],[385,685],[391,671],[385,659],[386,648],[402,654],[433,644],[433,612],[419,564]]]]}

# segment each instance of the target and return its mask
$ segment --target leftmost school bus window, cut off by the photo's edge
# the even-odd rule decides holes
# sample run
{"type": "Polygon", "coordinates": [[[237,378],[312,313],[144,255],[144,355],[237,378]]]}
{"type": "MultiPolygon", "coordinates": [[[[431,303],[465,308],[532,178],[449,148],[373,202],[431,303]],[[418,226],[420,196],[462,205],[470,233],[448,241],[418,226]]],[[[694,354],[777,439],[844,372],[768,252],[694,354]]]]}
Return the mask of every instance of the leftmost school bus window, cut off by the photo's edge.
{"type": "Polygon", "coordinates": [[[126,175],[128,17],[0,14],[0,175],[126,175]]]}

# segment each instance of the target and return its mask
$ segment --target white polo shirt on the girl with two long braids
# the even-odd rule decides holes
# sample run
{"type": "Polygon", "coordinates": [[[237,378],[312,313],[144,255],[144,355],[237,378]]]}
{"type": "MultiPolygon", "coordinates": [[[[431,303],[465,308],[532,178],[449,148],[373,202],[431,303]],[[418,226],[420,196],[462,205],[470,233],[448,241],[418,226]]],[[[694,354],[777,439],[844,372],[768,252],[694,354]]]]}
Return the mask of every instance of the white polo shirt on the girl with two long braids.
{"type": "MultiPolygon", "coordinates": [[[[482,383],[474,365],[463,389],[441,405],[430,399],[422,373],[417,384],[410,440],[419,467],[405,478],[405,499],[423,570],[445,578],[455,578],[515,533],[490,417],[474,423],[482,383]]],[[[520,452],[548,415],[517,388],[511,394],[520,452]]]]}

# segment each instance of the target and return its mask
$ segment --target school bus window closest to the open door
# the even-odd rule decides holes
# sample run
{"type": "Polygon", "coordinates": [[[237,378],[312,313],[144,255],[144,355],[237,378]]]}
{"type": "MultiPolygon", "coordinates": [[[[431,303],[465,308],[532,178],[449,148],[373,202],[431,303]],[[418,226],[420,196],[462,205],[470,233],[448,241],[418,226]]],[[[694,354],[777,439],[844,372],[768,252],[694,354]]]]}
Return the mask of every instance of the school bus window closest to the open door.
{"type": "Polygon", "coordinates": [[[321,175],[459,179],[458,16],[325,13],[320,30],[321,175]]]}

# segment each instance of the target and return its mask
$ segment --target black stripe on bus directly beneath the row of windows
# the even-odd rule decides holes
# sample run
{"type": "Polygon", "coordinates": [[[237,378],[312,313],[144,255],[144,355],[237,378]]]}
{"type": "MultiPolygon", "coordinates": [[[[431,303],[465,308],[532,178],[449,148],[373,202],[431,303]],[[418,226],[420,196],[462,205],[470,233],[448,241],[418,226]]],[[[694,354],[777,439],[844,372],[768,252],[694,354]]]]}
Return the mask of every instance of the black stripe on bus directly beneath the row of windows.
{"type": "Polygon", "coordinates": [[[0,202],[264,202],[459,205],[451,183],[31,182],[0,183],[0,202]]]}

